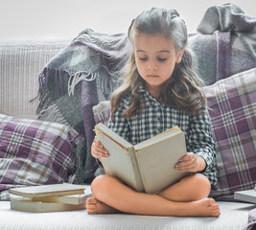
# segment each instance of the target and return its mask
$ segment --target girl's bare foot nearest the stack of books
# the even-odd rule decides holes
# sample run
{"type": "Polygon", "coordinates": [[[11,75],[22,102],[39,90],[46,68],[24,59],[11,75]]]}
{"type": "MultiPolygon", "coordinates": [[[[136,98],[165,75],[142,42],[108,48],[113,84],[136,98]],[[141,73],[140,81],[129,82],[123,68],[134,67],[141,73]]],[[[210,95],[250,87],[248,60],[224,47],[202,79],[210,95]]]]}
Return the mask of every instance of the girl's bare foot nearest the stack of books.
{"type": "Polygon", "coordinates": [[[86,199],[86,209],[88,214],[114,214],[118,211],[95,197],[86,199]]]}

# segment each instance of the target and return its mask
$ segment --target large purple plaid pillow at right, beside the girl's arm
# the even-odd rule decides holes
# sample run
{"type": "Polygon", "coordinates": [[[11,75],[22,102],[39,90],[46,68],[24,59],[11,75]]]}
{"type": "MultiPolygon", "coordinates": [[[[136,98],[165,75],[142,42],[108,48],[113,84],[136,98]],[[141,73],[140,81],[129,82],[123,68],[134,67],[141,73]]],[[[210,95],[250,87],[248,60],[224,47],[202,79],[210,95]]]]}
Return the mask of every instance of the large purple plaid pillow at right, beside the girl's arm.
{"type": "Polygon", "coordinates": [[[256,184],[256,69],[206,86],[216,141],[218,183],[211,196],[232,196],[256,184]]]}

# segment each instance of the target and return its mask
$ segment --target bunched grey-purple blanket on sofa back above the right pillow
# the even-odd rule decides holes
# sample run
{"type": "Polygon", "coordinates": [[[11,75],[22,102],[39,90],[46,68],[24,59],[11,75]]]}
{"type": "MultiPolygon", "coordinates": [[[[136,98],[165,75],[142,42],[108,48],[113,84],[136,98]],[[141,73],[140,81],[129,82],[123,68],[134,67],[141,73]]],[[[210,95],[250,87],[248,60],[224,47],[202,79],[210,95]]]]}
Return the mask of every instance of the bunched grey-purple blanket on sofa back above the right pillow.
{"type": "Polygon", "coordinates": [[[256,17],[234,4],[209,8],[189,46],[198,58],[198,74],[212,84],[256,66],[256,17]]]}

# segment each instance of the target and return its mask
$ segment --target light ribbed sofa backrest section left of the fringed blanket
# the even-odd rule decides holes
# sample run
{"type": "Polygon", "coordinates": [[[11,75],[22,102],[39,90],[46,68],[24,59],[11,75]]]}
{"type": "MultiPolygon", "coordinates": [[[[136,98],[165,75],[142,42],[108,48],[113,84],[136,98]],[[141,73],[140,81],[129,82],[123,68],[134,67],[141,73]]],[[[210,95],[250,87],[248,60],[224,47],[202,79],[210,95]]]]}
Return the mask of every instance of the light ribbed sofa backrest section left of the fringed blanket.
{"type": "Polygon", "coordinates": [[[38,75],[68,43],[67,39],[0,41],[0,113],[35,118],[38,75]]]}

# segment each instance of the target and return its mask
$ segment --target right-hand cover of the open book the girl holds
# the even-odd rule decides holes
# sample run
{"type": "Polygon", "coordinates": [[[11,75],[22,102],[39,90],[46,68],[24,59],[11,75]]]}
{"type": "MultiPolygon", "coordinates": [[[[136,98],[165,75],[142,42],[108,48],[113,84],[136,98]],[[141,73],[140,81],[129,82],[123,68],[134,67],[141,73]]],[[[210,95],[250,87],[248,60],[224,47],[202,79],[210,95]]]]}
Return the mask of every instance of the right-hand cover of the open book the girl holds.
{"type": "Polygon", "coordinates": [[[187,174],[175,170],[175,164],[187,150],[183,132],[148,144],[134,148],[145,191],[155,194],[187,174]]]}

